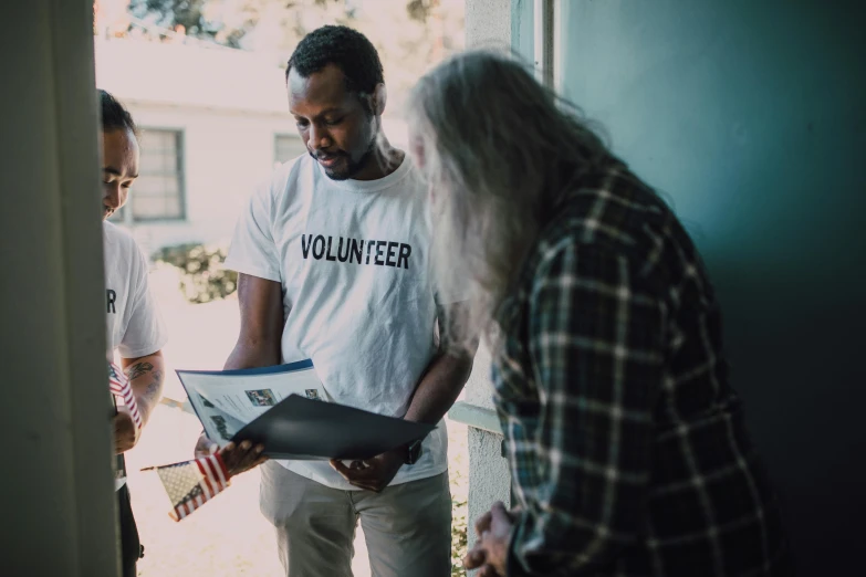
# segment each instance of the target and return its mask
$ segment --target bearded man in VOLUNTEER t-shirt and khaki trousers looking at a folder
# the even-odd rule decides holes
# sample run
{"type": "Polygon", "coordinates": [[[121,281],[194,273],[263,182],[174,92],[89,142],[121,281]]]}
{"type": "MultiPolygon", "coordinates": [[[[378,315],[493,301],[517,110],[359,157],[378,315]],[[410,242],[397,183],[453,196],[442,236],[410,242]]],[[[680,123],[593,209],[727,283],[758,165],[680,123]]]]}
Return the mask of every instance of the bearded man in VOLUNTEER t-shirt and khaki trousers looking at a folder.
{"type": "MultiPolygon", "coordinates": [[[[309,34],[289,61],[291,113],[309,156],[252,196],[226,266],[240,273],[241,333],[227,369],[311,358],[331,400],[437,423],[422,442],[346,466],[262,466],[261,510],[290,577],[351,575],[358,520],[373,575],[450,575],[442,417],[470,356],[436,338],[449,304],[429,273],[427,189],[380,130],[386,93],[369,41],[309,34]]],[[[202,438],[199,452],[212,444],[202,438]]]]}

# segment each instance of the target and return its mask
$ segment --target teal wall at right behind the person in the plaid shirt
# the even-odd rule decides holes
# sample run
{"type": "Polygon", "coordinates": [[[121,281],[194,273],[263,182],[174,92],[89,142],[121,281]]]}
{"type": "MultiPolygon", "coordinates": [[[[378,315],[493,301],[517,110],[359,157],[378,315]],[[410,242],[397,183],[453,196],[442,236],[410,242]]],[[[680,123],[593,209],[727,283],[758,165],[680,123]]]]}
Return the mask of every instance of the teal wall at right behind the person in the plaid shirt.
{"type": "Polygon", "coordinates": [[[801,575],[853,575],[866,513],[866,2],[562,6],[565,95],[671,201],[709,265],[801,575]]]}

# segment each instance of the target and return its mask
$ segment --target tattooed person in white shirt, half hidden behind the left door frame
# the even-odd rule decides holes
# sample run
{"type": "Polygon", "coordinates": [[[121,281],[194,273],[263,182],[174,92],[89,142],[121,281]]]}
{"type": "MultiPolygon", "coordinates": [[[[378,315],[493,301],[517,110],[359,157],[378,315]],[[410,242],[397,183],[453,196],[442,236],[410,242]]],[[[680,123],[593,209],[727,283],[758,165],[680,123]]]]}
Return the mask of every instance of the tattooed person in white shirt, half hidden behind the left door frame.
{"type": "MultiPolygon", "coordinates": [[[[161,348],[167,340],[156,302],[147,284],[147,260],[135,240],[106,219],[126,203],[138,177],[138,138],[129,113],[111,94],[100,91],[102,106],[103,233],[108,359],[115,352],[129,378],[136,405],[146,424],[159,402],[165,380],[161,348]]],[[[117,454],[115,492],[121,528],[124,577],[136,575],[144,554],[129,503],[123,453],[136,445],[140,431],[125,407],[114,417],[117,454]]]]}

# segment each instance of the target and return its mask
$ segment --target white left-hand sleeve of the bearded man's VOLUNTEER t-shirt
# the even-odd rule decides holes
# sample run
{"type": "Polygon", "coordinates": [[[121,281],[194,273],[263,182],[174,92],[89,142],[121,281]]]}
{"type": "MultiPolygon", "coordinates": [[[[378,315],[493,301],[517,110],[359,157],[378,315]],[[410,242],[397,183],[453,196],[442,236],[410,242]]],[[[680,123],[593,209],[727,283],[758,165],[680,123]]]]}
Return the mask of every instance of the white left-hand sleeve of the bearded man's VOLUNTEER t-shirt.
{"type": "Polygon", "coordinates": [[[270,185],[264,183],[255,189],[238,219],[225,263],[227,269],[282,282],[272,220],[273,197],[270,185]]]}

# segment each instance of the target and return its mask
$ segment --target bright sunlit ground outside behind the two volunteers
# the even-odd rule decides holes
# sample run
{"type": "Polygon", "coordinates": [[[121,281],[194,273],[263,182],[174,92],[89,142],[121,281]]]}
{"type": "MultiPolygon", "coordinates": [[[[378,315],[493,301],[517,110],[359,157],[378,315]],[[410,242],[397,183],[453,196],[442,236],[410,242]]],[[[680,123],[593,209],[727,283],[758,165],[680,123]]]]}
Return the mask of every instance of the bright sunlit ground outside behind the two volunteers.
{"type": "MultiPolygon", "coordinates": [[[[157,270],[150,279],[170,332],[170,343],[164,349],[169,369],[165,397],[181,405],[186,395],[174,369],[222,367],[238,333],[238,302],[231,297],[190,305],[177,288],[173,269],[157,270]]],[[[258,471],[234,479],[231,487],[179,523],[168,517],[168,497],[156,474],[138,471],[143,466],[190,459],[200,431],[194,415],[164,403],[154,412],[138,445],[127,454],[133,508],[145,545],[138,575],[281,575],[273,529],[259,513],[258,471]]],[[[469,463],[466,427],[448,422],[448,431],[451,493],[458,502],[466,503],[469,463]]],[[[457,514],[466,515],[466,507],[459,507],[457,514]]],[[[369,575],[359,526],[353,570],[356,577],[369,575]]]]}

